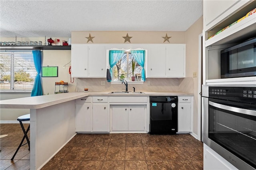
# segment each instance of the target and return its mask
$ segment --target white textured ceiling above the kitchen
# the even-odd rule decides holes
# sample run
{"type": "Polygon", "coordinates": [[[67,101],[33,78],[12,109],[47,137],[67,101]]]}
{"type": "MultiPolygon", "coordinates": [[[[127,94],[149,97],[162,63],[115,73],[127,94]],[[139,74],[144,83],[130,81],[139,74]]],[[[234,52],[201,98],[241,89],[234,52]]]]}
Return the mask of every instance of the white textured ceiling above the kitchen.
{"type": "Polygon", "coordinates": [[[0,37],[186,31],[202,15],[202,0],[0,0],[0,37]]]}

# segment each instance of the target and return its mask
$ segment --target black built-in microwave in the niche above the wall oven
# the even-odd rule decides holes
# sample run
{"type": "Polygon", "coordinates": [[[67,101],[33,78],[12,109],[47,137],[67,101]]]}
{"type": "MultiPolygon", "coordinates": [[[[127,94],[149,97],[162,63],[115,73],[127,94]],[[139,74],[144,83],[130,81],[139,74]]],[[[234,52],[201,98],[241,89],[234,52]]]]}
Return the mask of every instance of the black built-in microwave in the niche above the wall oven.
{"type": "Polygon", "coordinates": [[[256,76],[256,38],[221,51],[221,78],[256,76]]]}

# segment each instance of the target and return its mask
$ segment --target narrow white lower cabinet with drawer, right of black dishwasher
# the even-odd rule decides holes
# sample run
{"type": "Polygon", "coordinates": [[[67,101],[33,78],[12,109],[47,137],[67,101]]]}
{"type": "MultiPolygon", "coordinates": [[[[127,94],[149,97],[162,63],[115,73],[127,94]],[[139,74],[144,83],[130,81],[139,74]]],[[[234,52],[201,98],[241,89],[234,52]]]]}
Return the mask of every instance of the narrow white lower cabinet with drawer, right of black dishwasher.
{"type": "Polygon", "coordinates": [[[191,132],[191,96],[178,96],[178,132],[191,132]]]}

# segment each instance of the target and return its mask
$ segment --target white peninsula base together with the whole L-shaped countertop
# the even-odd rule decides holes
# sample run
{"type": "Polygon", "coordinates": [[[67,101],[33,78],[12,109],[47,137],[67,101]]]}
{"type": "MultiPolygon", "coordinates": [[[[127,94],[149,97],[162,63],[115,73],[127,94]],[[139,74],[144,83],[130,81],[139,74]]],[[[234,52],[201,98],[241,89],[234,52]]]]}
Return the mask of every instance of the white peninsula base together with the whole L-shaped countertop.
{"type": "MultiPolygon", "coordinates": [[[[76,99],[86,96],[193,96],[184,92],[68,92],[1,100],[1,108],[30,109],[30,169],[42,168],[76,135],[76,99]]],[[[11,113],[10,113],[11,114],[11,113]]]]}

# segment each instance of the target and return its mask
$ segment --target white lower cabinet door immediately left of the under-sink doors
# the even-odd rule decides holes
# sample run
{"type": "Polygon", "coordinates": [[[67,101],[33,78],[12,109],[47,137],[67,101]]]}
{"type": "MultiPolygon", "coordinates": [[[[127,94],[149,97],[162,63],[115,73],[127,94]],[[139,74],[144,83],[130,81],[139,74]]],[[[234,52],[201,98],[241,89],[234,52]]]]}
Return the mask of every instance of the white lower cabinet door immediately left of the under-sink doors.
{"type": "Polygon", "coordinates": [[[92,105],[92,131],[109,132],[108,104],[92,105]]]}

